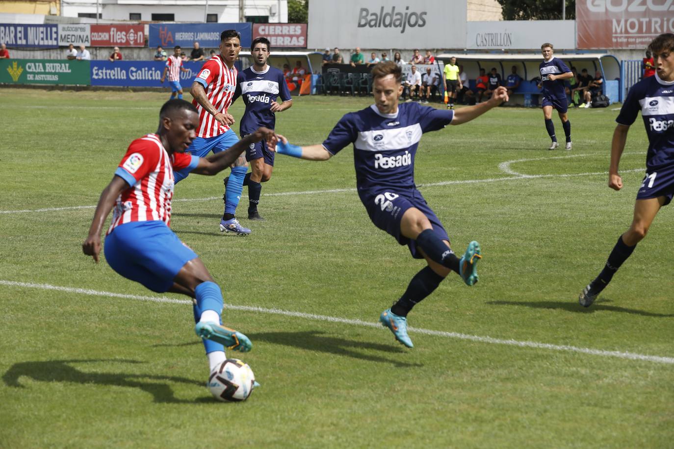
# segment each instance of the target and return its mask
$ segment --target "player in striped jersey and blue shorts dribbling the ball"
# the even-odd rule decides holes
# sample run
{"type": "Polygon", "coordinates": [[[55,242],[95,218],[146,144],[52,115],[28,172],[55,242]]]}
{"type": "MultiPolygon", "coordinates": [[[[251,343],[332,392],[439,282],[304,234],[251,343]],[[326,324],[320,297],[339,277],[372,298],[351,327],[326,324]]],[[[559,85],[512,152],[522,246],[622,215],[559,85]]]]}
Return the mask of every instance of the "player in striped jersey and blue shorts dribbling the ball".
{"type": "Polygon", "coordinates": [[[222,292],[202,260],[171,231],[173,170],[214,175],[224,170],[247,145],[274,133],[258,129],[226,151],[208,158],[185,153],[199,125],[196,108],[183,100],[169,100],[159,112],[159,129],[135,139],[122,158],[113,180],[100,195],[84,254],[98,263],[100,232],[110,211],[113,219],[105,238],[105,258],[123,277],[152,291],[183,293],[194,299],[195,332],[204,338],[209,367],[224,359],[224,346],[249,351],[251,342],[221,325],[222,292]]]}

